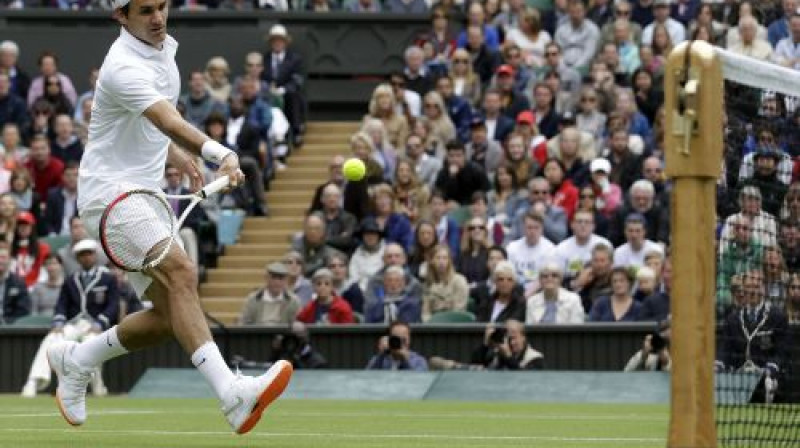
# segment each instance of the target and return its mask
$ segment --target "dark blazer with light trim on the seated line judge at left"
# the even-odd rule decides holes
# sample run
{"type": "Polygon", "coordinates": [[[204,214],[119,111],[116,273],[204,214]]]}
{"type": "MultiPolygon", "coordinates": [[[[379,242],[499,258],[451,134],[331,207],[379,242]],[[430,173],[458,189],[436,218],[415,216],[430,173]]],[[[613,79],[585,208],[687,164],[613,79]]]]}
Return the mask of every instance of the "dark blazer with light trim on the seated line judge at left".
{"type": "Polygon", "coordinates": [[[53,315],[53,326],[60,327],[67,321],[84,314],[94,320],[103,330],[109,329],[119,318],[119,288],[117,279],[104,267],[95,266],[90,271],[87,293],[81,294],[79,270],[67,277],[61,286],[61,294],[53,315]]]}

